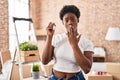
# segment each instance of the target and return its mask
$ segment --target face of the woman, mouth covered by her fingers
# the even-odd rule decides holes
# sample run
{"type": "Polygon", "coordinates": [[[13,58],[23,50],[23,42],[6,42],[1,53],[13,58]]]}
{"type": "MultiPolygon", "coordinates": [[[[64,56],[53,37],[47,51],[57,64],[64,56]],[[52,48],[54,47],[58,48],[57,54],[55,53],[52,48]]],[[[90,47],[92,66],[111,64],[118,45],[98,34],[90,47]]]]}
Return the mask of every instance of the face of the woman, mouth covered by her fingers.
{"type": "Polygon", "coordinates": [[[63,16],[63,25],[65,25],[67,32],[69,32],[70,28],[72,27],[74,31],[77,33],[77,24],[79,20],[73,13],[66,13],[63,16]]]}

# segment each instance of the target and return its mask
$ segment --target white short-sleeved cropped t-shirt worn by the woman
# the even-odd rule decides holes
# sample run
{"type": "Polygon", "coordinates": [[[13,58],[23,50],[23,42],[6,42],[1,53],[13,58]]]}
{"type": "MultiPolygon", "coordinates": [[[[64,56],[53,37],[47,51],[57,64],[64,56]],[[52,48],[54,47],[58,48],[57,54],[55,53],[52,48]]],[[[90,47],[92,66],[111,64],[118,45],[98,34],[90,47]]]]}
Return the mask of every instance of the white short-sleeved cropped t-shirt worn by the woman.
{"type": "MultiPolygon", "coordinates": [[[[54,47],[55,63],[54,70],[74,73],[81,70],[74,57],[73,49],[68,41],[67,35],[57,34],[53,36],[52,46],[54,47]]],[[[93,51],[93,44],[90,40],[81,35],[78,46],[82,53],[84,51],[93,51]]]]}

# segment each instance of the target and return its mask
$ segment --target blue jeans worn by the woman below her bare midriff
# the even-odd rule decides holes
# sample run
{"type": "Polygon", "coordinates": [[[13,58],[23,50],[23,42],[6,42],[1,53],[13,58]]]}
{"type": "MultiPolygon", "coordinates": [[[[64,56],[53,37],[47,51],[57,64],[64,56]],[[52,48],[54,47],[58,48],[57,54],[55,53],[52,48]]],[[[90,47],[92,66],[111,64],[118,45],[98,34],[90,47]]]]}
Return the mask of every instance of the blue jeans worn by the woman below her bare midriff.
{"type": "Polygon", "coordinates": [[[71,78],[67,79],[67,78],[59,78],[56,77],[54,75],[54,73],[52,72],[52,74],[50,75],[50,78],[48,80],[85,80],[82,71],[76,73],[74,76],[72,76],[71,78]]]}

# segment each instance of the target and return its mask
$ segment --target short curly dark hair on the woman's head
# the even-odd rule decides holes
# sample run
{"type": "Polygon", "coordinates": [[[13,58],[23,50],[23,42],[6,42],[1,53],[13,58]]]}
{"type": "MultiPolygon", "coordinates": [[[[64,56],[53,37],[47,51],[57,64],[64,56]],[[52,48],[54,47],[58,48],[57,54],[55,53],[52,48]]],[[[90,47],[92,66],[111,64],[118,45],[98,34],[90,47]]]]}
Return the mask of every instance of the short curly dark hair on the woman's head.
{"type": "Polygon", "coordinates": [[[63,16],[69,12],[75,14],[77,18],[80,17],[80,11],[75,5],[65,5],[59,13],[60,19],[63,20],[63,16]]]}

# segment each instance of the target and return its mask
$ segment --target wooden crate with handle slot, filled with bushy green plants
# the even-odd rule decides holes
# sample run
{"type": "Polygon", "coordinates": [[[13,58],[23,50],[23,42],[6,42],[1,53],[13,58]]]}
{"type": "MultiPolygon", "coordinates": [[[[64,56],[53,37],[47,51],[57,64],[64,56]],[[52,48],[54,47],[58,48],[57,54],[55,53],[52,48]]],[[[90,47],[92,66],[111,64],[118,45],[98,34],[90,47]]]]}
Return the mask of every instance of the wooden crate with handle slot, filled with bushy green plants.
{"type": "Polygon", "coordinates": [[[22,62],[39,61],[39,51],[37,45],[31,42],[23,42],[19,45],[22,62]]]}

